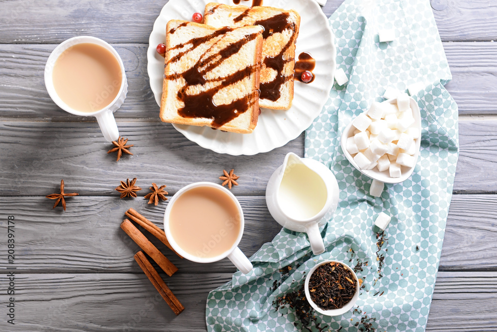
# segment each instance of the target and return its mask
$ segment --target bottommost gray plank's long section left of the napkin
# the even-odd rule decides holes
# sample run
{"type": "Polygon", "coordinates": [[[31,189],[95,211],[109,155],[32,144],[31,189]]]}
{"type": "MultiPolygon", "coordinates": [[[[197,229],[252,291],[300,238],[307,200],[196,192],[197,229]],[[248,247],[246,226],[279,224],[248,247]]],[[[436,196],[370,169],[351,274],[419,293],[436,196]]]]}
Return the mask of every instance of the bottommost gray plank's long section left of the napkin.
{"type": "MultiPolygon", "coordinates": [[[[143,273],[17,273],[15,325],[7,324],[6,319],[2,319],[0,330],[205,331],[207,294],[231,280],[231,274],[177,272],[171,277],[161,276],[185,307],[177,317],[143,273]]],[[[3,273],[0,280],[3,284],[3,273]]],[[[5,292],[2,292],[1,303],[6,304],[7,299],[5,292]]]]}

